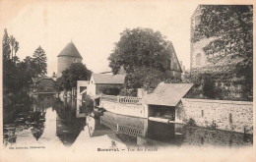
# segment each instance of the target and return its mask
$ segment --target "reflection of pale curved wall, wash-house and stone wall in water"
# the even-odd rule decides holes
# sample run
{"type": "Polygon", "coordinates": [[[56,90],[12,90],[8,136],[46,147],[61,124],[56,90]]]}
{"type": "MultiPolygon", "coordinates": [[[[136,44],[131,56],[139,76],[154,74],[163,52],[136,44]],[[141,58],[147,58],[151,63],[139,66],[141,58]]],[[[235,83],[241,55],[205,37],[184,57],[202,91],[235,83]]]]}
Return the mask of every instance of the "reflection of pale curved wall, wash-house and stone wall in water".
{"type": "Polygon", "coordinates": [[[252,135],[162,124],[109,112],[104,112],[100,122],[115,131],[121,140],[128,140],[137,145],[237,147],[253,143],[252,135]]]}

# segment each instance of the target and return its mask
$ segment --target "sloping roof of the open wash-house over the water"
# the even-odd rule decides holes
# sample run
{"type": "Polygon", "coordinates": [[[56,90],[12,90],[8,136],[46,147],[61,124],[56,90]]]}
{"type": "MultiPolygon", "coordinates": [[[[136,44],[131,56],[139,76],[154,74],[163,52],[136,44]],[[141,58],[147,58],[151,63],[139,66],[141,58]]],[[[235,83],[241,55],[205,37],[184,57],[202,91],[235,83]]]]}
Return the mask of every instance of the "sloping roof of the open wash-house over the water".
{"type": "Polygon", "coordinates": [[[146,103],[152,105],[176,106],[193,83],[160,83],[147,95],[146,103]]]}

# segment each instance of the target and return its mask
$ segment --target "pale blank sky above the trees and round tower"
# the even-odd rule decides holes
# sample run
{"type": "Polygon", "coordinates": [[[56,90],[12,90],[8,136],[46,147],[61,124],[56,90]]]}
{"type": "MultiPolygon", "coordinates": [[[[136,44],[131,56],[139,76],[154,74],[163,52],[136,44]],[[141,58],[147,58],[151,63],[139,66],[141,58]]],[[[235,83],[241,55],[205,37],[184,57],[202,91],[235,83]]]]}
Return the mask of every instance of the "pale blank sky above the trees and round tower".
{"type": "MultiPolygon", "coordinates": [[[[95,73],[110,71],[108,56],[125,28],[150,27],[173,43],[186,70],[190,62],[190,18],[198,4],[187,1],[46,1],[16,3],[1,27],[20,43],[18,57],[32,56],[40,45],[48,76],[57,72],[57,55],[73,41],[83,63],[95,73]]],[[[8,12],[8,5],[5,8],[8,12]]]]}

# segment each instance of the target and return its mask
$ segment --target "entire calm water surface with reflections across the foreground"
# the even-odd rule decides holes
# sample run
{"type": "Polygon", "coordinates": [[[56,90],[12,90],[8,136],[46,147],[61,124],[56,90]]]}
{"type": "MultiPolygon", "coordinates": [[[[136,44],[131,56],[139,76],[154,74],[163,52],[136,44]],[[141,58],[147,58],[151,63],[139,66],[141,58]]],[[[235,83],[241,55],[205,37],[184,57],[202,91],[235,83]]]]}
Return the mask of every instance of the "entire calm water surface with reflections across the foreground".
{"type": "Polygon", "coordinates": [[[47,146],[104,142],[122,146],[252,146],[252,135],[167,125],[104,112],[100,118],[76,117],[76,100],[53,95],[4,101],[3,142],[10,146],[47,146]],[[101,119],[101,120],[100,120],[101,119]],[[94,142],[98,141],[98,142],[94,142]]]}

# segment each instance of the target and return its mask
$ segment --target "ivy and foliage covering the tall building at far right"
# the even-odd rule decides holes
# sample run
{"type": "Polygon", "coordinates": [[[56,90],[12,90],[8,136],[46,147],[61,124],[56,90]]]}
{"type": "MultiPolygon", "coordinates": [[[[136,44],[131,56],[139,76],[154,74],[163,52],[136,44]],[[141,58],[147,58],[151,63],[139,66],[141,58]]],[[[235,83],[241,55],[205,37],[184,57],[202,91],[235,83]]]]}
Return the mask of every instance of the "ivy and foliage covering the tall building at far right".
{"type": "Polygon", "coordinates": [[[197,74],[192,74],[195,84],[201,82],[203,95],[213,99],[224,99],[224,94],[229,90],[215,86],[219,81],[225,84],[228,81],[234,85],[241,84],[244,88],[240,99],[252,100],[252,6],[202,5],[200,7],[202,13],[200,24],[195,27],[192,42],[202,38],[215,39],[203,48],[210,65],[204,69],[197,69],[197,74]],[[236,78],[244,79],[239,80],[240,82],[233,81],[236,78]]]}

